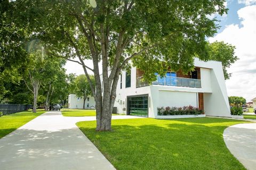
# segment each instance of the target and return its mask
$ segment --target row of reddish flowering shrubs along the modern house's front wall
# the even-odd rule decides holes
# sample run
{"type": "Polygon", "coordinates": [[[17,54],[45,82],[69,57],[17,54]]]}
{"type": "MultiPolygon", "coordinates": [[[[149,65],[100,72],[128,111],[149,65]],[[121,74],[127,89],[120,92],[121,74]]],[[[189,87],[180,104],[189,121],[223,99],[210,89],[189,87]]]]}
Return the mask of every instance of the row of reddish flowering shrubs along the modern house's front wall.
{"type": "Polygon", "coordinates": [[[193,106],[184,107],[157,107],[158,115],[201,115],[204,111],[193,106]]]}

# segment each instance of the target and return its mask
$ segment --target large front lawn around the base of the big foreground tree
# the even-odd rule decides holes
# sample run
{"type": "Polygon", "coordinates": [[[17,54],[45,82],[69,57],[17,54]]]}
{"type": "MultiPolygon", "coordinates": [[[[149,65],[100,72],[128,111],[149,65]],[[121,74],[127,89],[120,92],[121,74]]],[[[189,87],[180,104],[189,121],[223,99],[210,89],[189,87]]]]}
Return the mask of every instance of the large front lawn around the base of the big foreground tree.
{"type": "Polygon", "coordinates": [[[95,121],[77,126],[117,169],[245,169],[222,137],[228,126],[237,123],[245,121],[113,120],[112,132],[95,132],[95,121]]]}

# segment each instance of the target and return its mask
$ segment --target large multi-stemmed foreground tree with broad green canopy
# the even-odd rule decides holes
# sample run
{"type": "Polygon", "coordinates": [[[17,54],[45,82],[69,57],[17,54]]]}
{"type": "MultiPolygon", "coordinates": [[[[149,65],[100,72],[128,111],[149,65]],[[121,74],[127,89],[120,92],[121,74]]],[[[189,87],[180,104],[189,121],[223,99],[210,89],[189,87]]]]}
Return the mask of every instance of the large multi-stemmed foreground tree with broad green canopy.
{"type": "Polygon", "coordinates": [[[166,66],[174,71],[192,70],[195,56],[209,60],[205,37],[213,36],[217,26],[216,19],[207,15],[227,12],[225,0],[14,3],[19,4],[17,17],[45,41],[48,53],[71,61],[78,57],[79,61],[74,62],[82,65],[95,98],[97,131],[111,130],[119,73],[129,66],[129,61],[145,71],[149,81],[155,79],[154,72],[166,70],[166,66]],[[93,67],[85,59],[92,60],[93,67]],[[94,74],[95,87],[89,71],[94,74]]]}

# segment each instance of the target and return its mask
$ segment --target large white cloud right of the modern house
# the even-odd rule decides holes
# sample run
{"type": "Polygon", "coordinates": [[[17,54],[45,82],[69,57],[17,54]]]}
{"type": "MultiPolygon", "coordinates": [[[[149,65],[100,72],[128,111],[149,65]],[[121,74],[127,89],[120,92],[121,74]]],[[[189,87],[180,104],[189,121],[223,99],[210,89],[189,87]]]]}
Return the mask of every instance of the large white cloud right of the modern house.
{"type": "Polygon", "coordinates": [[[209,41],[225,41],[236,46],[235,54],[240,59],[228,69],[233,73],[226,81],[228,95],[243,96],[249,101],[256,97],[256,5],[243,7],[237,14],[242,20],[241,28],[238,24],[227,25],[209,41]]]}

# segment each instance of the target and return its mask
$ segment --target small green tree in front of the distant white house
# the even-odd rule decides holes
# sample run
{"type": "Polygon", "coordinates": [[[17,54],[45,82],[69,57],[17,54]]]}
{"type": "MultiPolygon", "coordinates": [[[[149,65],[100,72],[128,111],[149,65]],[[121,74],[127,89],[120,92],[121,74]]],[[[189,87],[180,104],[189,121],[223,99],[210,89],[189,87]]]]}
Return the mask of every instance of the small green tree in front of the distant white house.
{"type": "MultiPolygon", "coordinates": [[[[93,75],[90,75],[90,79],[94,84],[93,75]]],[[[76,77],[75,85],[76,85],[75,94],[77,97],[84,98],[83,109],[85,109],[85,100],[87,96],[92,95],[90,83],[88,82],[85,74],[81,74],[81,75],[78,75],[78,77],[76,77]]]]}

